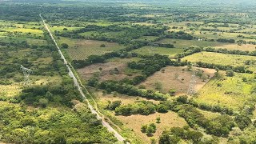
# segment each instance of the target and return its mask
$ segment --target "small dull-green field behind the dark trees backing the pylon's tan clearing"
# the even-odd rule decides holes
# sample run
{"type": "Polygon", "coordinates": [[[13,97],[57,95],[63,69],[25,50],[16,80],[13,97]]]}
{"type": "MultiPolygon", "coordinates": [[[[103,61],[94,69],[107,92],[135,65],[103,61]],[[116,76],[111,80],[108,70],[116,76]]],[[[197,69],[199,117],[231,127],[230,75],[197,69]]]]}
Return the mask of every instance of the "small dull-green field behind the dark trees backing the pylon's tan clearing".
{"type": "Polygon", "coordinates": [[[162,54],[168,55],[173,58],[174,55],[184,52],[183,49],[177,48],[166,48],[166,47],[155,47],[155,46],[143,46],[142,48],[132,50],[132,52],[142,55],[162,54]]]}

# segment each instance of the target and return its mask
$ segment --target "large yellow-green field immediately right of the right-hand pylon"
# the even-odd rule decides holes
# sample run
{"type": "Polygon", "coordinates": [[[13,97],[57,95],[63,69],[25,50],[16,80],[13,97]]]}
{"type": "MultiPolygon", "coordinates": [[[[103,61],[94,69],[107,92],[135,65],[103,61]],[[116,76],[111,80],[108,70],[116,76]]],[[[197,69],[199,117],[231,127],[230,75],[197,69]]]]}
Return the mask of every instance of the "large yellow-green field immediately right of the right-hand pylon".
{"type": "Polygon", "coordinates": [[[223,74],[223,78],[213,78],[203,86],[195,100],[239,110],[253,96],[250,93],[253,84],[250,80],[253,78],[254,74],[235,74],[234,77],[226,77],[223,74]],[[246,78],[248,82],[243,82],[242,78],[246,78]]]}

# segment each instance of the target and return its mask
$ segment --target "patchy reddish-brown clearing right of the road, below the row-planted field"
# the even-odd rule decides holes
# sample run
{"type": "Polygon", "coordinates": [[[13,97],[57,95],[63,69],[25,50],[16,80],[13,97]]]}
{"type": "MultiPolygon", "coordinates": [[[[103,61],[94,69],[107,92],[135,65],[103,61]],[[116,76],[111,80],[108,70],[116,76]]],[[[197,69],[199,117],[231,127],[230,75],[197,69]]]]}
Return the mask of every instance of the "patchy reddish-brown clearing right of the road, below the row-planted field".
{"type": "Polygon", "coordinates": [[[94,73],[100,74],[100,81],[104,80],[122,80],[123,78],[134,78],[140,70],[131,70],[127,66],[127,62],[133,61],[134,58],[112,59],[110,62],[97,63],[78,69],[78,73],[82,78],[88,80],[94,73]],[[99,70],[102,68],[102,70],[99,70]],[[118,69],[119,74],[111,74],[111,70],[118,69]]]}

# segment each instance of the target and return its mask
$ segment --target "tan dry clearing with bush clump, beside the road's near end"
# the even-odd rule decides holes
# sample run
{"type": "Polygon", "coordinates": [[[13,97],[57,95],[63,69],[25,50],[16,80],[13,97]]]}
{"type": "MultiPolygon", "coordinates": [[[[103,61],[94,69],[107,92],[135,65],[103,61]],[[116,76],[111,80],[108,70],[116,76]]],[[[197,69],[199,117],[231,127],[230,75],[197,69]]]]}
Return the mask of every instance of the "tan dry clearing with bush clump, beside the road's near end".
{"type": "Polygon", "coordinates": [[[145,143],[150,143],[150,137],[147,137],[146,134],[141,132],[141,126],[155,123],[156,118],[161,118],[161,123],[156,123],[157,131],[154,134],[153,138],[158,139],[162,134],[162,131],[168,130],[171,127],[182,127],[186,126],[187,123],[183,118],[180,118],[178,114],[174,112],[168,112],[166,114],[150,114],[150,115],[130,115],[130,116],[116,116],[118,120],[123,122],[128,128],[134,130],[135,134],[145,141],[145,143]]]}

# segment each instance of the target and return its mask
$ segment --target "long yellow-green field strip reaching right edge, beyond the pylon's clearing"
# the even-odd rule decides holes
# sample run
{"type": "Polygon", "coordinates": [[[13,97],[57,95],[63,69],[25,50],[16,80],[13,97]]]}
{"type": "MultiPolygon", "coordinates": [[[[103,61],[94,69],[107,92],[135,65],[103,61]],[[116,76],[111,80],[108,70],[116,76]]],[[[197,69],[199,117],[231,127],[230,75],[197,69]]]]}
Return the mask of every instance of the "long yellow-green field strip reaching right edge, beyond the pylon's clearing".
{"type": "Polygon", "coordinates": [[[218,54],[211,52],[201,52],[197,54],[189,55],[185,58],[182,58],[182,61],[190,62],[206,62],[213,63],[224,66],[246,66],[248,70],[255,71],[256,58],[254,56],[245,56],[245,55],[234,55],[234,54],[218,54]],[[250,61],[250,65],[246,65],[245,62],[250,61]]]}

